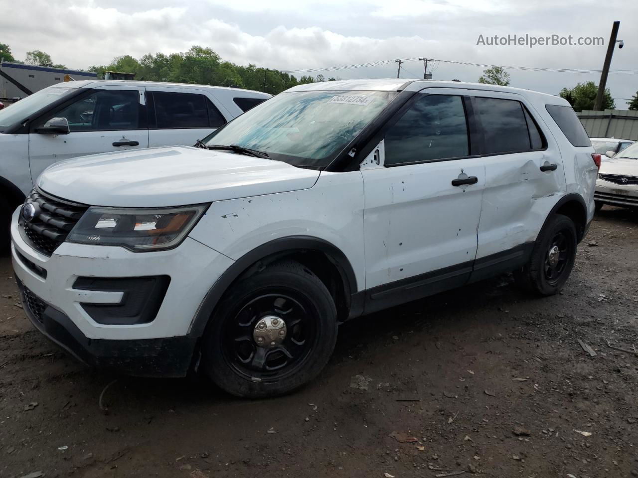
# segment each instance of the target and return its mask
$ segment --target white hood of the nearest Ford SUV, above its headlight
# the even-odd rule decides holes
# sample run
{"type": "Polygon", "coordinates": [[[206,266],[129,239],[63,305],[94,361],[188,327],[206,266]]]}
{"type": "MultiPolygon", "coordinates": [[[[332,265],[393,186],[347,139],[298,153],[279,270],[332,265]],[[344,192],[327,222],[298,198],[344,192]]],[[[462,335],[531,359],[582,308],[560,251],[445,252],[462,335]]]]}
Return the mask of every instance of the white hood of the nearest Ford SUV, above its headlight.
{"type": "Polygon", "coordinates": [[[281,161],[174,146],[68,159],[43,171],[37,184],[75,203],[162,207],[308,189],[318,177],[281,161]]]}

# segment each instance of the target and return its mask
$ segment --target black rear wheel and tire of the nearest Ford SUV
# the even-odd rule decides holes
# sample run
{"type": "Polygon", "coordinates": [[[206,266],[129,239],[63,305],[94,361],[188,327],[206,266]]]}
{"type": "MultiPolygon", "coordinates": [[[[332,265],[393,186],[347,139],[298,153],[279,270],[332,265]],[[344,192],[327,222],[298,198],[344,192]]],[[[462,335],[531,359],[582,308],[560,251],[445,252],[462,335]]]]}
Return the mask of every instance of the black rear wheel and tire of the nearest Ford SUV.
{"type": "Polygon", "coordinates": [[[556,214],[547,221],[538,235],[530,261],[515,277],[524,289],[542,296],[558,293],[567,279],[576,257],[576,228],[574,221],[562,214],[556,214]],[[550,260],[550,252],[558,259],[550,260]]]}

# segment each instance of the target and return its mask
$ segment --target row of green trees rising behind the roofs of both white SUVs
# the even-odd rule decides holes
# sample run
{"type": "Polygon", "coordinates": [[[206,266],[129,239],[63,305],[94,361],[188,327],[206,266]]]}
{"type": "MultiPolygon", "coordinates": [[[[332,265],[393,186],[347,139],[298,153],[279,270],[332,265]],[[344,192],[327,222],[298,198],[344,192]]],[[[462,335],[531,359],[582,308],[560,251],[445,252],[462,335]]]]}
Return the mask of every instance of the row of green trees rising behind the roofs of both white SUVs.
{"type": "Polygon", "coordinates": [[[277,94],[300,83],[313,83],[312,76],[297,80],[283,71],[257,68],[255,64],[241,66],[223,61],[211,48],[195,45],[187,52],[166,55],[146,54],[140,59],[130,55],[115,57],[108,65],[91,66],[89,71],[135,73],[136,80],[153,82],[197,83],[240,87],[277,94]]]}

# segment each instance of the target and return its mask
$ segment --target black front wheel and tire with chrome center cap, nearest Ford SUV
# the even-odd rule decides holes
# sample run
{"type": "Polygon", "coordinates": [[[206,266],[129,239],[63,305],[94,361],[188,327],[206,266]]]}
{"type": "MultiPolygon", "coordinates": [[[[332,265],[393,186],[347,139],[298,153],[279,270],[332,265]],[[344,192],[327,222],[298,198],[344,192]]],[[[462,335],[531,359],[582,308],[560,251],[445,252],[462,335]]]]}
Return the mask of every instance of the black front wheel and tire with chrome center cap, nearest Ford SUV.
{"type": "Polygon", "coordinates": [[[315,274],[295,261],[271,264],[240,279],[221,300],[202,342],[204,373],[235,396],[284,395],[321,372],[337,328],[334,300],[315,274]]]}

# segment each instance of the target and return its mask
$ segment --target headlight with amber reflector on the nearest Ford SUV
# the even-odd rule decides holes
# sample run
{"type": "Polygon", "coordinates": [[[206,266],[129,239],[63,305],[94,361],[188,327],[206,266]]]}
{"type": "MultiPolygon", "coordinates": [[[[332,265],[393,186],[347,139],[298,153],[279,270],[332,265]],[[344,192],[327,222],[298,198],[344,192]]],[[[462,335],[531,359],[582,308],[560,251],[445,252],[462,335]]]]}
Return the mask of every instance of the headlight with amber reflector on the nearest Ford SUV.
{"type": "Polygon", "coordinates": [[[208,206],[159,209],[95,206],[82,215],[66,240],[119,245],[133,252],[172,249],[184,240],[208,206]]]}

